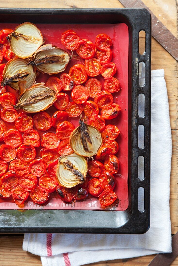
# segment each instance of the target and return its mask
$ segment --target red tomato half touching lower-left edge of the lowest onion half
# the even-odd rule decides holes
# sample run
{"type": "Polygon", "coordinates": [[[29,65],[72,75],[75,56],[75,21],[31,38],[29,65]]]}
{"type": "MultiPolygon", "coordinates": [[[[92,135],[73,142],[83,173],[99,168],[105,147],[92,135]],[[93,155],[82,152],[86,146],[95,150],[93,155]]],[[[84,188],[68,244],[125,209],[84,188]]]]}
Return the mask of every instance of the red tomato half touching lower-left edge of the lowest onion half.
{"type": "Polygon", "coordinates": [[[56,189],[56,182],[47,173],[43,174],[38,180],[41,189],[52,193],[56,189]]]}

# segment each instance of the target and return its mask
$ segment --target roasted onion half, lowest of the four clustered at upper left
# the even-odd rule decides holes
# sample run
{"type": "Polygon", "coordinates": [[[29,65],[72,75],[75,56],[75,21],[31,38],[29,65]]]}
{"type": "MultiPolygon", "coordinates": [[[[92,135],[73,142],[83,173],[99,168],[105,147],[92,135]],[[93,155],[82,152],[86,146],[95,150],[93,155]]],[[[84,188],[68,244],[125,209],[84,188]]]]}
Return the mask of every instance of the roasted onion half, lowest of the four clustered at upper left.
{"type": "Polygon", "coordinates": [[[37,83],[25,90],[23,90],[22,86],[19,90],[19,101],[14,108],[21,108],[27,113],[38,113],[46,110],[56,101],[56,93],[52,89],[44,86],[43,83],[37,83]]]}

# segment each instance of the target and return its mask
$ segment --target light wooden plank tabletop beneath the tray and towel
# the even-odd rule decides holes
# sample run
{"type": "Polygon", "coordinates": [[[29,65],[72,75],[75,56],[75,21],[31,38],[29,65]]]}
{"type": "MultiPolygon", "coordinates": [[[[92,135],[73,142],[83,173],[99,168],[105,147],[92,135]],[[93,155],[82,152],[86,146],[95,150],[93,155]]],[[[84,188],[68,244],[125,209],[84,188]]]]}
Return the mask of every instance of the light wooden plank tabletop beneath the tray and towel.
{"type": "MultiPolygon", "coordinates": [[[[129,1],[129,0],[128,0],[129,1]]],[[[143,0],[157,18],[177,37],[177,2],[175,0],[143,0]]],[[[0,1],[0,7],[19,8],[122,8],[118,0],[7,0],[0,1]]],[[[170,211],[172,234],[178,231],[178,90],[177,90],[177,61],[152,38],[152,69],[164,69],[168,90],[169,111],[172,129],[172,171],[170,185],[170,211]]],[[[39,256],[32,255],[22,250],[23,235],[0,235],[0,266],[23,265],[41,266],[39,256]]],[[[93,266],[146,266],[155,255],[120,259],[93,263],[93,266]]],[[[87,264],[89,265],[89,264],[87,264]]],[[[171,265],[178,265],[178,257],[171,265]]],[[[55,265],[54,265],[55,266],[55,265]]],[[[86,266],[86,265],[85,265],[86,266]]]]}

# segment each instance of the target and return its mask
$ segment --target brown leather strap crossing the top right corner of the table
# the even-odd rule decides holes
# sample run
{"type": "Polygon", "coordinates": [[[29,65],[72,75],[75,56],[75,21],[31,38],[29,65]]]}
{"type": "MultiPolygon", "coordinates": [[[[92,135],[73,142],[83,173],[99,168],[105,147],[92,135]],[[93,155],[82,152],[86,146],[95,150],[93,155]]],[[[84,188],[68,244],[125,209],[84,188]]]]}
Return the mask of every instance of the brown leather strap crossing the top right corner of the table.
{"type": "Polygon", "coordinates": [[[146,8],[152,16],[153,37],[178,61],[178,39],[141,0],[119,0],[125,7],[146,8]]]}

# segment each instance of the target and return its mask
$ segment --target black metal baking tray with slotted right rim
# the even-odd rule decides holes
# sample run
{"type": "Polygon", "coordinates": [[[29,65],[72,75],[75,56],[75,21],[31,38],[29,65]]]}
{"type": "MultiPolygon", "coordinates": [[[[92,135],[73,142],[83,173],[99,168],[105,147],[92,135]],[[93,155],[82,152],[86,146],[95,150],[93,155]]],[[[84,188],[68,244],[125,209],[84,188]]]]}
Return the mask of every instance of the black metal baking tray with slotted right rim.
{"type": "Polygon", "coordinates": [[[143,234],[150,226],[151,15],[146,9],[0,9],[0,23],[114,24],[129,29],[128,62],[128,189],[125,211],[0,210],[0,233],[143,234]],[[139,32],[145,31],[145,53],[139,54],[139,32]],[[139,63],[145,63],[145,85],[139,86],[139,63]],[[145,115],[138,114],[139,94],[145,115]],[[144,148],[138,127],[144,126],[144,148]],[[138,157],[144,157],[144,179],[138,178],[138,157]],[[144,188],[144,211],[138,210],[138,189],[144,188]]]}

